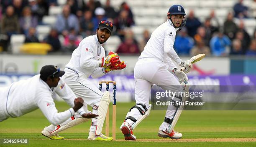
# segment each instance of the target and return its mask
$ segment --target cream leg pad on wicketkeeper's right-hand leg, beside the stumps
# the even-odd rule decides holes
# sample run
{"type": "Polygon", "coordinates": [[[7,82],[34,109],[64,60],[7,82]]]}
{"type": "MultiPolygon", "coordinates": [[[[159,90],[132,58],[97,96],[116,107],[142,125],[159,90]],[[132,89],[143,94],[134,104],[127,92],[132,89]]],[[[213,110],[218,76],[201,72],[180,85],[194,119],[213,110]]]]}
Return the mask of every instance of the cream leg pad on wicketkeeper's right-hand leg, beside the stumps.
{"type": "Polygon", "coordinates": [[[105,117],[107,115],[107,110],[108,110],[109,103],[110,103],[109,92],[106,91],[106,92],[104,92],[104,94],[101,97],[100,105],[99,105],[99,108],[98,108],[98,115],[99,116],[97,117],[98,121],[97,121],[97,127],[96,127],[96,132],[95,132],[96,135],[101,134],[102,127],[103,127],[103,124],[104,124],[104,120],[105,120],[105,117]]]}

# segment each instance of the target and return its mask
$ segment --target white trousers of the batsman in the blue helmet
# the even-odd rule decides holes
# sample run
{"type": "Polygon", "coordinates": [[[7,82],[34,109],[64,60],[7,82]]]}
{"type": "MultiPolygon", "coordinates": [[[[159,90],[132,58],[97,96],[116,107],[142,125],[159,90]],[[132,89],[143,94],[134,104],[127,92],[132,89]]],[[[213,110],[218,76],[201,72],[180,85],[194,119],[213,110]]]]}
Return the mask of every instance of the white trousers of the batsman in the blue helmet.
{"type": "MultiPolygon", "coordinates": [[[[178,90],[175,89],[180,85],[179,81],[174,77],[174,75],[167,70],[168,65],[160,60],[153,58],[144,58],[138,60],[134,67],[134,80],[135,80],[135,100],[136,104],[142,103],[146,107],[149,106],[149,100],[151,97],[151,86],[153,84],[161,87],[163,90],[178,90]]],[[[180,87],[180,86],[179,86],[180,87]]],[[[166,111],[165,117],[173,118],[176,112],[176,107],[169,106],[166,111]]],[[[140,117],[138,110],[133,109],[128,116],[132,116],[136,119],[140,117]]],[[[164,120],[164,118],[163,118],[164,120]]],[[[129,124],[131,122],[128,122],[129,124]]],[[[160,130],[166,130],[169,124],[163,122],[160,126],[160,130]]]]}

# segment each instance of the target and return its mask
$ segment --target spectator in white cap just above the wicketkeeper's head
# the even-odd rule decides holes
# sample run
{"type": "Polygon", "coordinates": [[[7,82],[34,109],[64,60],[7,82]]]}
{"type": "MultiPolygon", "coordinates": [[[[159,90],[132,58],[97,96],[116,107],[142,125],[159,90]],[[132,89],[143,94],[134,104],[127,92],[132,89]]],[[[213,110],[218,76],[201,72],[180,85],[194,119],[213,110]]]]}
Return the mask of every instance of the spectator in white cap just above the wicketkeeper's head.
{"type": "Polygon", "coordinates": [[[92,18],[93,22],[93,31],[97,30],[98,24],[102,20],[107,20],[107,17],[105,17],[105,10],[102,7],[97,7],[94,11],[95,17],[92,18]]]}

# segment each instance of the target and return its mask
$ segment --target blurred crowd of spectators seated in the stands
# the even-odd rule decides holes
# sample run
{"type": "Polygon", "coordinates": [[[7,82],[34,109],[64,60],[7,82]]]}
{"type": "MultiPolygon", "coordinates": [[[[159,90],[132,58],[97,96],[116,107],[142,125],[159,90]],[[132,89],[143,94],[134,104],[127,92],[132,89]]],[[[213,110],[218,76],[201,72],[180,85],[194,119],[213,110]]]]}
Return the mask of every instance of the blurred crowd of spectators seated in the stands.
{"type": "MultiPolygon", "coordinates": [[[[84,37],[95,34],[101,20],[109,20],[114,24],[113,35],[121,40],[117,53],[138,54],[143,51],[150,38],[151,32],[144,30],[141,40],[136,40],[132,29],[129,29],[136,25],[133,12],[125,1],[117,10],[112,7],[110,0],[106,0],[105,4],[97,0],[67,0],[62,13],[56,16],[56,23],[49,35],[39,40],[36,27],[45,25],[42,18],[49,15],[51,6],[56,5],[57,0],[0,0],[2,50],[8,51],[11,35],[24,34],[25,43],[50,44],[49,53],[72,53],[84,37]]],[[[255,12],[255,5],[252,7],[255,12]]],[[[174,44],[179,55],[256,55],[256,31],[252,36],[246,31],[244,20],[249,15],[243,0],[238,0],[233,6],[233,12],[228,13],[224,24],[220,24],[214,10],[204,22],[195,16],[193,10],[186,13],[186,25],[177,33],[174,44]],[[234,17],[240,20],[238,25],[234,22],[234,17]]],[[[252,17],[256,19],[255,13],[252,17]]]]}

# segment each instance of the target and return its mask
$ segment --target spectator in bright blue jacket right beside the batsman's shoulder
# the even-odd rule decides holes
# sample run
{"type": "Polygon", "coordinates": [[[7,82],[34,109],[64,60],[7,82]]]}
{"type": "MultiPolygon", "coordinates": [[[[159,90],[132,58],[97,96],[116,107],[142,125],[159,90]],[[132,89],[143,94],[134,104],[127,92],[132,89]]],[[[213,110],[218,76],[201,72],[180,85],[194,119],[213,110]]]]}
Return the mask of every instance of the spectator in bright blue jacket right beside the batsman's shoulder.
{"type": "Polygon", "coordinates": [[[177,54],[189,55],[189,51],[194,45],[194,40],[192,37],[187,35],[186,27],[182,27],[179,34],[175,38],[174,49],[177,54]]]}

